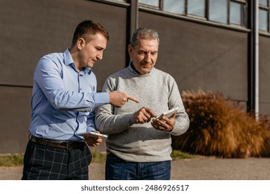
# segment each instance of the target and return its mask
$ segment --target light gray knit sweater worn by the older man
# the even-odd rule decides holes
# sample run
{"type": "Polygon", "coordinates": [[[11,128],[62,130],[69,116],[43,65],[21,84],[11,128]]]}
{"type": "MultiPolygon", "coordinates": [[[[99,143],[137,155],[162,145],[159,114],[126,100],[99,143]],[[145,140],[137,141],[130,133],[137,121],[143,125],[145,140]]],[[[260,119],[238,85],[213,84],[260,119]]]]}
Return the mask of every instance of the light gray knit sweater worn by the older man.
{"type": "Polygon", "coordinates": [[[125,161],[150,162],[171,160],[171,134],[180,135],[189,127],[188,114],[183,107],[179,89],[168,73],[153,68],[146,75],[132,73],[125,68],[109,76],[103,91],[123,91],[140,100],[129,100],[123,107],[102,105],[96,109],[96,127],[107,138],[107,153],[125,161]],[[172,132],[154,129],[150,123],[135,124],[134,113],[147,107],[157,116],[180,107],[172,132]]]}

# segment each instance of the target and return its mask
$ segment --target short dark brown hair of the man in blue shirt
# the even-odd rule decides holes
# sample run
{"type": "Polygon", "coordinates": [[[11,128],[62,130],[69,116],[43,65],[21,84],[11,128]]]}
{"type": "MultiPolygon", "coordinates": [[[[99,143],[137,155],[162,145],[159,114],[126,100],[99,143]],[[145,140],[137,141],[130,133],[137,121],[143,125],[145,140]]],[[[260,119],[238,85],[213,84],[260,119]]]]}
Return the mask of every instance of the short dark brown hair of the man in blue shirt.
{"type": "Polygon", "coordinates": [[[96,35],[97,33],[100,33],[109,41],[109,33],[101,24],[91,20],[80,22],[75,29],[71,47],[75,46],[80,37],[82,37],[85,42],[90,42],[93,39],[92,35],[96,35]]]}

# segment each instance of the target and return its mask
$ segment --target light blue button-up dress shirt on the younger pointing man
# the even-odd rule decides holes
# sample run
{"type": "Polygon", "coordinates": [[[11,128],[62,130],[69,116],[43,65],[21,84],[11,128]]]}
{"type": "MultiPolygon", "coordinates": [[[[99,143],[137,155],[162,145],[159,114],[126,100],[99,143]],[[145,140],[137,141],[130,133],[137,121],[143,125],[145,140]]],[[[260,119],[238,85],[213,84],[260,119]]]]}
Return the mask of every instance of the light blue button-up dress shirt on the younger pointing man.
{"type": "Polygon", "coordinates": [[[109,93],[96,93],[96,87],[91,68],[76,71],[69,49],[42,57],[34,74],[30,134],[83,141],[76,134],[96,130],[93,109],[109,103],[109,93]]]}

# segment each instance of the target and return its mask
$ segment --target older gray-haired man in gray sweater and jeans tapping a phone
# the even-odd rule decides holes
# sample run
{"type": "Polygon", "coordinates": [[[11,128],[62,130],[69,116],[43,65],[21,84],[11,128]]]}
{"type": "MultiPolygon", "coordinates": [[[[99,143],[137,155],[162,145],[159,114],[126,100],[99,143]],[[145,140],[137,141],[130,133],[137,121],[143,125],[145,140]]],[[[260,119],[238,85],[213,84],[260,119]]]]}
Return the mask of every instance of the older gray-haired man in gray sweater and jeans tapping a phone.
{"type": "Polygon", "coordinates": [[[154,68],[159,35],[151,28],[134,31],[129,67],[105,81],[103,91],[123,91],[140,100],[124,107],[102,105],[96,126],[107,138],[106,179],[170,179],[171,135],[181,135],[189,118],[174,78],[154,68]],[[179,107],[170,118],[163,112],[179,107]]]}

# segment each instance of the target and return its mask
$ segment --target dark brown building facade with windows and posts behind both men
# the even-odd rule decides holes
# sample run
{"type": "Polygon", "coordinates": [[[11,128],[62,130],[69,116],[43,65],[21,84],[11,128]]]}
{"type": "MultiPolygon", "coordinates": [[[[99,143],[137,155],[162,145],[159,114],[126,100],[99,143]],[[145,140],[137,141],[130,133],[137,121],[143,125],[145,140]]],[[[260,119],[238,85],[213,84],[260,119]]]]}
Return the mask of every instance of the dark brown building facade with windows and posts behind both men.
{"type": "Polygon", "coordinates": [[[68,48],[84,19],[110,33],[93,67],[98,90],[127,66],[132,32],[146,26],[161,39],[156,68],[180,91],[219,91],[270,115],[269,11],[269,0],[0,0],[0,154],[24,152],[37,62],[68,48]]]}

